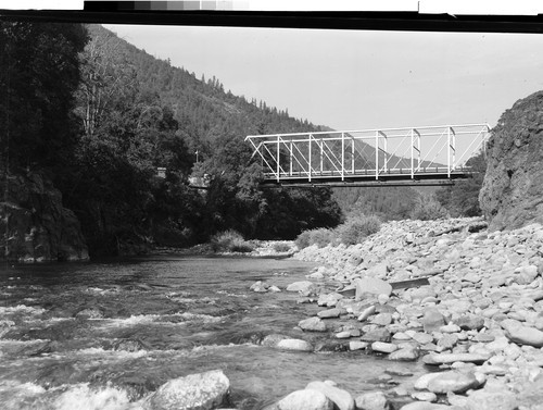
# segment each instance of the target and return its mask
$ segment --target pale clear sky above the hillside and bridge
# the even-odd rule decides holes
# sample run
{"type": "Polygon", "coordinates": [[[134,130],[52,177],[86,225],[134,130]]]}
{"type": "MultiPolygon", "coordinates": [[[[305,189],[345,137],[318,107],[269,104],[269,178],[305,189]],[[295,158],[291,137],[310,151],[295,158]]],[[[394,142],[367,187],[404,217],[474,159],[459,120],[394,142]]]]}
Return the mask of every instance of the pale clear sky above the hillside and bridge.
{"type": "Polygon", "coordinates": [[[105,25],[225,90],[341,129],[489,123],[543,89],[543,35],[105,25]]]}

